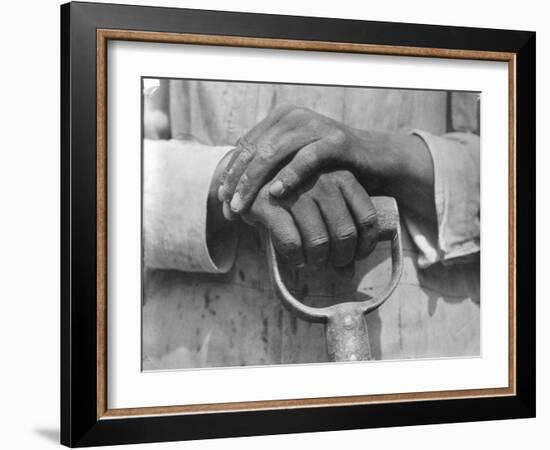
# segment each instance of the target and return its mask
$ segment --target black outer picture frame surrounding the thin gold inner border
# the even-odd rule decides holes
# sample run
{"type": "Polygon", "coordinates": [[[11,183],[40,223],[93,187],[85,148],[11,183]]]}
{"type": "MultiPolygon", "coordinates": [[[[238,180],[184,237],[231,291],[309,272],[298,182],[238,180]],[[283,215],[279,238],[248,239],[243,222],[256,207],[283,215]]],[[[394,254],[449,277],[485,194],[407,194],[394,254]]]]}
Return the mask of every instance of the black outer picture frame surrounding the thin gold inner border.
{"type": "Polygon", "coordinates": [[[535,416],[534,32],[127,5],[61,6],[61,443],[71,447],[535,416]],[[98,29],[509,52],[516,57],[516,393],[98,418],[98,29]]]}

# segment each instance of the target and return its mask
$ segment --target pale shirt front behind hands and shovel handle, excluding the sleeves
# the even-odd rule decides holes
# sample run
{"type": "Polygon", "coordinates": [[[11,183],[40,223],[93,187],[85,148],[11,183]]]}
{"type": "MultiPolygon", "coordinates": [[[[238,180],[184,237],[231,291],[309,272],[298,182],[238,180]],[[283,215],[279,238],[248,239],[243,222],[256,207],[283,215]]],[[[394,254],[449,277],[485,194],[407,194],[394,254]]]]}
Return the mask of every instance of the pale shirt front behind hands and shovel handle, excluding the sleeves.
{"type": "MultiPolygon", "coordinates": [[[[449,122],[448,97],[439,91],[160,80],[150,101],[158,116],[167,118],[161,122],[170,124],[167,137],[217,146],[234,144],[282,102],[360,129],[420,129],[443,135],[449,122]]],[[[144,209],[148,214],[152,211],[144,209]]],[[[401,282],[391,298],[367,316],[374,357],[479,355],[479,262],[435,263],[421,269],[419,246],[413,243],[408,225],[405,218],[401,282]]],[[[296,318],[275,295],[257,230],[239,223],[238,233],[235,263],[225,274],[145,272],[145,370],[327,361],[323,326],[296,318]]],[[[426,239],[438,242],[437,236],[426,239]]],[[[388,245],[379,243],[368,258],[355,264],[354,271],[342,273],[329,266],[285,270],[285,281],[310,305],[350,300],[357,286],[361,293],[375,296],[389,279],[388,245]]]]}

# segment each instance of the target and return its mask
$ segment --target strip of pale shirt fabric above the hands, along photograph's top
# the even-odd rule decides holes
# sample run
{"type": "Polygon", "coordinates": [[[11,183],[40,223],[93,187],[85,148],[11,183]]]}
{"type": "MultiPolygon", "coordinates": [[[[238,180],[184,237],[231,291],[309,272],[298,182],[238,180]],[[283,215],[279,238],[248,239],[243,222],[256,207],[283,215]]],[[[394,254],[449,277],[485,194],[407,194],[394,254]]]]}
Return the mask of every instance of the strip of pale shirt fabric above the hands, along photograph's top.
{"type": "MultiPolygon", "coordinates": [[[[405,89],[304,86],[225,81],[160,80],[146,101],[166,115],[173,139],[234,145],[273,108],[310,108],[350,127],[441,135],[447,131],[447,93],[405,89]]],[[[158,118],[161,121],[160,117],[158,118]]]]}

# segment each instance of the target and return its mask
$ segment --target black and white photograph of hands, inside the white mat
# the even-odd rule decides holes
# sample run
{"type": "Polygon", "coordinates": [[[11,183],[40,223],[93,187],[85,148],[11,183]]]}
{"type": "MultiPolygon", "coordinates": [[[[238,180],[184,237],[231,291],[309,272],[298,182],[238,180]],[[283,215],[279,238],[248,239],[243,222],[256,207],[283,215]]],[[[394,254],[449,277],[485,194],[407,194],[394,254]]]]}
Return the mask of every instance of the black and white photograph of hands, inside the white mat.
{"type": "Polygon", "coordinates": [[[141,88],[143,371],[480,356],[480,92],[141,88]]]}

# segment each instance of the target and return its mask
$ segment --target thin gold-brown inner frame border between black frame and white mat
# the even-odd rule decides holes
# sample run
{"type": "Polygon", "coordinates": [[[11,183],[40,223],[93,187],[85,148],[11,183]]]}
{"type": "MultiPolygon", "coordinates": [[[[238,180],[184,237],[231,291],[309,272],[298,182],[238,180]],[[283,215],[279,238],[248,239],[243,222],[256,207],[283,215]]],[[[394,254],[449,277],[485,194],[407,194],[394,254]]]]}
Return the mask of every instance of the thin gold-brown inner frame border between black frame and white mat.
{"type": "Polygon", "coordinates": [[[97,30],[97,418],[166,414],[218,413],[266,409],[313,408],[369,403],[448,400],[516,394],[516,54],[445,48],[403,47],[322,41],[265,39],[114,29],[97,30]],[[108,409],[107,405],[107,42],[109,40],[218,45],[287,50],[364,53],[393,56],[474,59],[508,63],[508,386],[399,394],[262,400],[200,405],[148,406],[108,409]]]}

